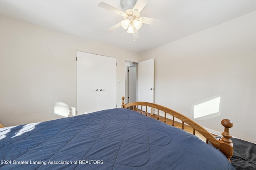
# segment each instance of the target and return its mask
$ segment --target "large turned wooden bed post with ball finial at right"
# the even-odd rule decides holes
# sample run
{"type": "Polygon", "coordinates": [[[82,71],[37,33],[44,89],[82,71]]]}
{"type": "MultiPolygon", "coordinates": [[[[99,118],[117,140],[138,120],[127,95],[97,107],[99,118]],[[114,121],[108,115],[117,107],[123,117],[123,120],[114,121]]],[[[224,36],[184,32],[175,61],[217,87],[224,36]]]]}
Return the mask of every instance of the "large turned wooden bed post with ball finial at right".
{"type": "Polygon", "coordinates": [[[224,131],[221,133],[222,138],[220,139],[220,151],[230,162],[230,158],[233,155],[233,143],[230,139],[232,135],[229,133],[229,128],[233,127],[233,123],[228,119],[222,119],[221,124],[224,126],[224,131]]]}

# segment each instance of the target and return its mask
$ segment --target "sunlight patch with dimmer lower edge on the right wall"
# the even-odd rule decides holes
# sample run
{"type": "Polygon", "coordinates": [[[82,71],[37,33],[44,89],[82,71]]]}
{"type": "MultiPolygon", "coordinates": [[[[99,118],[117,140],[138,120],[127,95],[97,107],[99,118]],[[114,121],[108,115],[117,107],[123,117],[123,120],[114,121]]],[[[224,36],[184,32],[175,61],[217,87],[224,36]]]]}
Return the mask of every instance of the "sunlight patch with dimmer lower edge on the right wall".
{"type": "Polygon", "coordinates": [[[220,115],[220,96],[205,99],[192,105],[191,116],[194,119],[210,119],[220,115]]]}

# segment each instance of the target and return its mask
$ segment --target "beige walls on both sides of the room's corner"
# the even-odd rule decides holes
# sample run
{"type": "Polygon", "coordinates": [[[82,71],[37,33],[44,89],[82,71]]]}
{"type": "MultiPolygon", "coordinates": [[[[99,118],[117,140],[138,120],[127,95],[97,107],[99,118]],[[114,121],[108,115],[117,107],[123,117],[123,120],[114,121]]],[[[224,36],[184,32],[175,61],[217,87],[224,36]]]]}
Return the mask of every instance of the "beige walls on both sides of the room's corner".
{"type": "MultiPolygon", "coordinates": [[[[222,23],[142,55],[1,17],[0,121],[5,126],[56,119],[54,103],[76,107],[76,50],[117,58],[117,104],[125,60],[155,58],[155,102],[190,117],[193,104],[220,96],[221,115],[195,120],[256,143],[256,13],[222,23]]],[[[171,31],[171,30],[170,30],[171,31]]]]}

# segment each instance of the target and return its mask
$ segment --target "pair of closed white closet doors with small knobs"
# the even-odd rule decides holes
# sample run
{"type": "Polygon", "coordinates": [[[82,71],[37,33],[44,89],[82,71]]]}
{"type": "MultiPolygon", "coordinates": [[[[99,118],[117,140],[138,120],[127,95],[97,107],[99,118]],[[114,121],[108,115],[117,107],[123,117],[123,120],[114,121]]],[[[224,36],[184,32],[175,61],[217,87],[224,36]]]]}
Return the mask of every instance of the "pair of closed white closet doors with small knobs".
{"type": "Polygon", "coordinates": [[[77,115],[116,107],[116,58],[77,51],[77,115]]]}

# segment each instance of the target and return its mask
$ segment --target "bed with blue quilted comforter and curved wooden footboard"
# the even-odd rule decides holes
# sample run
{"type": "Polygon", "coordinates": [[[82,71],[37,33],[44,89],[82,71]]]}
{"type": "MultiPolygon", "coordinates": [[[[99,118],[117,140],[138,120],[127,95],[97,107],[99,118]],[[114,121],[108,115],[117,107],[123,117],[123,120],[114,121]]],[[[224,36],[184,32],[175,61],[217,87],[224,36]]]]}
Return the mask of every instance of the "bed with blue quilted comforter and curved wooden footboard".
{"type": "Polygon", "coordinates": [[[167,107],[146,102],[124,105],[122,99],[123,108],[1,128],[0,169],[234,170],[229,160],[229,120],[222,121],[225,130],[219,141],[167,107]],[[147,106],[146,114],[151,109],[174,115],[203,133],[214,147],[175,125],[141,114],[142,105],[147,106]]]}

